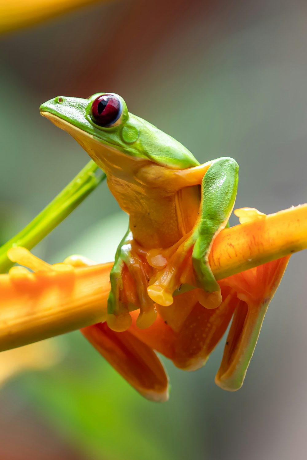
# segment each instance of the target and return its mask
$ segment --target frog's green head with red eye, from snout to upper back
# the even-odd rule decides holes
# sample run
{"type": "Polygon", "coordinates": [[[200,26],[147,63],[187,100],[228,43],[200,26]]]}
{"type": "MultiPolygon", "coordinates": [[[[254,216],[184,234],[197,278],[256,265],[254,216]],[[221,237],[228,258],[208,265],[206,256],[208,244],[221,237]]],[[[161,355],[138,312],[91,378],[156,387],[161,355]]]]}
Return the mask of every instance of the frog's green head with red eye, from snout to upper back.
{"type": "Polygon", "coordinates": [[[40,110],[71,134],[103,169],[115,153],[120,154],[116,161],[124,154],[175,169],[199,164],[174,138],[129,113],[117,94],[97,93],[88,99],[61,96],[42,104],[40,110]]]}

